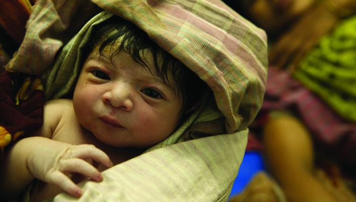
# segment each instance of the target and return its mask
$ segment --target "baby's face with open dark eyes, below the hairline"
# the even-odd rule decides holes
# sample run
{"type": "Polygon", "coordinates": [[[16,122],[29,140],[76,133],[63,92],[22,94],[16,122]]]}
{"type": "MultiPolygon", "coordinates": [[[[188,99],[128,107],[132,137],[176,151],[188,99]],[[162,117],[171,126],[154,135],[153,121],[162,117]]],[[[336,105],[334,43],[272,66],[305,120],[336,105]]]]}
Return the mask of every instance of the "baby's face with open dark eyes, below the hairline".
{"type": "Polygon", "coordinates": [[[112,62],[109,51],[100,57],[97,48],[85,61],[73,95],[79,123],[112,146],[148,147],[168,137],[182,101],[157,76],[152,60],[154,76],[125,52],[112,62]]]}

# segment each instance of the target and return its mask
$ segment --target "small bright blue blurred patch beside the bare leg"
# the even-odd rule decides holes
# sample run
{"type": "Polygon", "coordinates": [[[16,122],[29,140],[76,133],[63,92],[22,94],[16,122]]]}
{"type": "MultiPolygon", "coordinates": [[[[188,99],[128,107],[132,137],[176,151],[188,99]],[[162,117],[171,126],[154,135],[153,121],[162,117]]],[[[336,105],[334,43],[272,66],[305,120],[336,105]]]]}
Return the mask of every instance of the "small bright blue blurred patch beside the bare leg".
{"type": "Polygon", "coordinates": [[[252,177],[260,171],[266,170],[263,162],[263,157],[257,151],[248,151],[245,153],[240,170],[232,186],[229,199],[236,194],[239,194],[252,177]]]}

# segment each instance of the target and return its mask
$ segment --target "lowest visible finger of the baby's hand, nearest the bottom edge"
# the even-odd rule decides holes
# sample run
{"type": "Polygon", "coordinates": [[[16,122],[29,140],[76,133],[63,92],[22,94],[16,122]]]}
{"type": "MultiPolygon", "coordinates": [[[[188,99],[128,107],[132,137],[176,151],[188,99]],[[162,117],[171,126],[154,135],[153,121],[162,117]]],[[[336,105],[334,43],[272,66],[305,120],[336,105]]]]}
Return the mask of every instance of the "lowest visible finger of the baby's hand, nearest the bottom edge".
{"type": "Polygon", "coordinates": [[[82,190],[74,184],[65,174],[60,171],[52,173],[48,179],[48,183],[55,184],[59,186],[63,191],[69,193],[74,197],[80,197],[82,195],[82,190]]]}

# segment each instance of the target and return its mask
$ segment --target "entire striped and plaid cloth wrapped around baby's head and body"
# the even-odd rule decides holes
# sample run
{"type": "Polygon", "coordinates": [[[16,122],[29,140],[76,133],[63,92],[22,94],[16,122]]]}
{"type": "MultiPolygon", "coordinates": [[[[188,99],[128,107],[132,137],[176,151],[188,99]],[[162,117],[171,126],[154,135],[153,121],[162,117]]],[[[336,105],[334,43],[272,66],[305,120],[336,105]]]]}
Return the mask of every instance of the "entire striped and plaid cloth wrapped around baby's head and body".
{"type": "Polygon", "coordinates": [[[112,15],[144,30],[212,93],[202,96],[204,105],[167,139],[106,170],[105,183],[81,183],[86,191],[80,200],[226,200],[244,154],[247,126],[262,105],[265,32],[216,0],[38,0],[7,69],[41,74],[46,99],[68,96],[80,73],[81,48],[95,25],[112,15]]]}

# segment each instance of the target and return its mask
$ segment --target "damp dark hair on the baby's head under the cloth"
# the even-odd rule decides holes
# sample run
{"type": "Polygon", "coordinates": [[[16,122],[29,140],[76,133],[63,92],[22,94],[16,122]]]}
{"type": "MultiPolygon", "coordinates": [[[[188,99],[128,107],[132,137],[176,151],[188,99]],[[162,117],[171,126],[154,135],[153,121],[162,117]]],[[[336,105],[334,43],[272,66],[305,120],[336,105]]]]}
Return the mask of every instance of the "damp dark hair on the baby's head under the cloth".
{"type": "Polygon", "coordinates": [[[198,101],[202,92],[208,88],[207,84],[193,71],[152,41],[147,33],[133,23],[117,16],[113,16],[95,27],[88,46],[83,50],[84,60],[98,45],[100,56],[104,55],[108,47],[111,60],[118,52],[124,51],[147,70],[149,68],[143,51],[149,50],[154,59],[158,76],[165,84],[171,86],[176,95],[182,99],[182,115],[198,101]],[[168,79],[169,72],[172,73],[174,83],[170,83],[168,79]]]}

